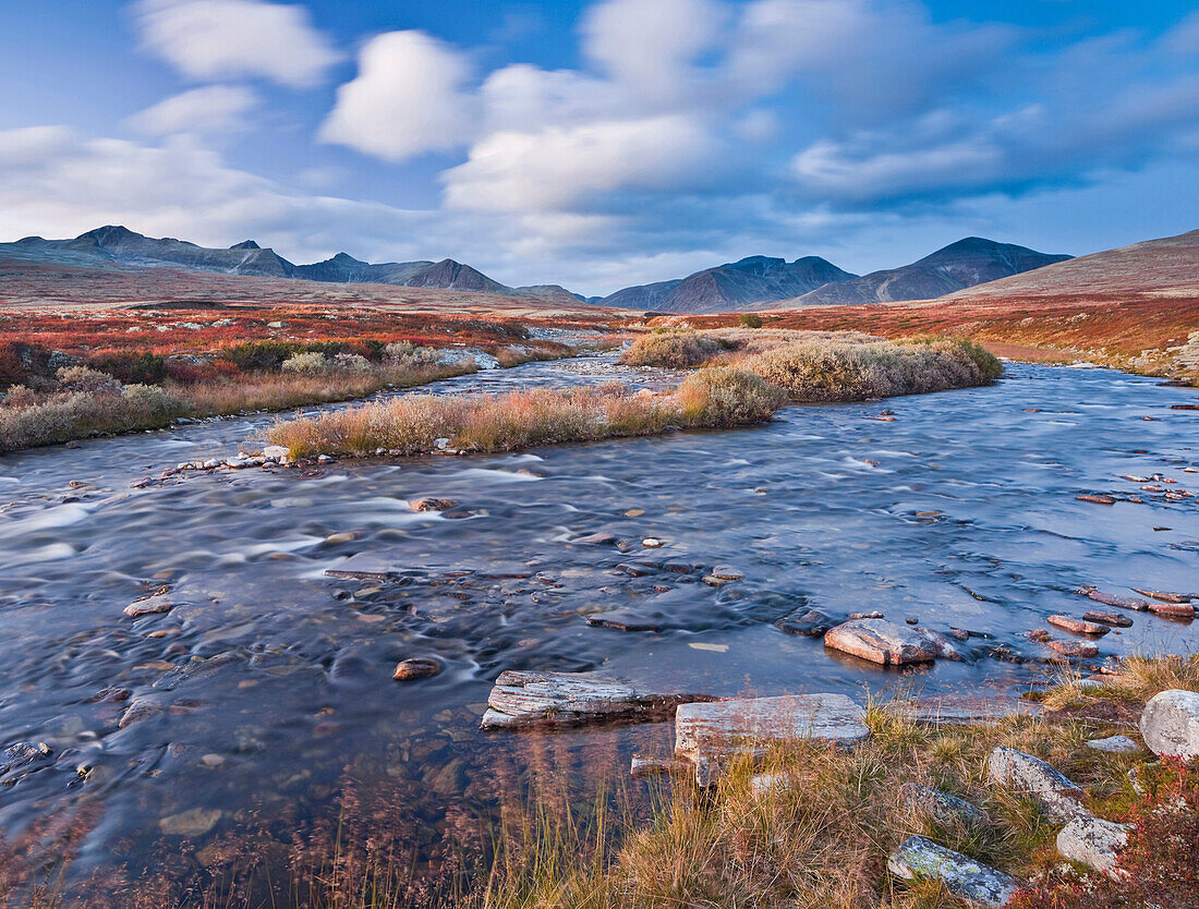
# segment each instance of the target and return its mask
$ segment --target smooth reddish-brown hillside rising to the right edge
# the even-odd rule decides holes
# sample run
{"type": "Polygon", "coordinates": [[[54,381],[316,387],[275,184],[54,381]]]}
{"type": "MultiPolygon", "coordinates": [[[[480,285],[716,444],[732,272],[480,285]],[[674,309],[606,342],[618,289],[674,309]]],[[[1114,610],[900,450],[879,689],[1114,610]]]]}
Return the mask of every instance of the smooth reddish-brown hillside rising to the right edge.
{"type": "Polygon", "coordinates": [[[1121,299],[1199,296],[1199,230],[1080,255],[951,294],[947,300],[1006,297],[1121,299]]]}

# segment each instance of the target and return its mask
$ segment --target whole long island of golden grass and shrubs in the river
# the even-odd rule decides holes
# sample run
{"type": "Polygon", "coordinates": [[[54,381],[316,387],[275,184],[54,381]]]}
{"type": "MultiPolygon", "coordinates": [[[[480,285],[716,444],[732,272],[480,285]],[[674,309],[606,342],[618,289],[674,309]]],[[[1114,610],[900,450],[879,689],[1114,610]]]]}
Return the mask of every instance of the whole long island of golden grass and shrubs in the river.
{"type": "Polygon", "coordinates": [[[1002,374],[994,356],[964,342],[890,343],[855,335],[795,332],[748,338],[729,332],[645,335],[622,362],[703,368],[670,392],[634,395],[614,384],[501,397],[404,398],[285,421],[266,438],[287,449],[291,458],[519,451],[682,428],[753,426],[770,420],[787,403],[872,401],[977,387],[1002,374]]]}

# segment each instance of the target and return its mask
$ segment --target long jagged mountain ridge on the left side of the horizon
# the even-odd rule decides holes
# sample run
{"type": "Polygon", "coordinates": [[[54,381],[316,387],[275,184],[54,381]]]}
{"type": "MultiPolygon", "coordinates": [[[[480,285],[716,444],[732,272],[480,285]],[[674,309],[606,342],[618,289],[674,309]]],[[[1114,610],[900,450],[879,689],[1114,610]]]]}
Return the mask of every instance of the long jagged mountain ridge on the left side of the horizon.
{"type": "MultiPolygon", "coordinates": [[[[397,284],[400,287],[440,288],[476,294],[504,294],[544,300],[547,288],[510,288],[493,281],[481,271],[453,259],[441,261],[370,263],[338,253],[332,259],[312,265],[294,265],[276,253],[264,249],[253,240],[245,240],[228,249],[216,249],[186,240],[155,239],[128,228],[108,225],[89,230],[73,240],[43,240],[28,236],[13,243],[0,243],[0,258],[13,255],[36,261],[70,265],[116,264],[134,267],[174,266],[219,275],[246,275],[267,278],[303,278],[329,283],[397,284]],[[530,293],[525,293],[525,290],[530,293]]],[[[556,285],[555,285],[556,287],[556,285]]],[[[565,290],[554,297],[573,305],[579,297],[565,290]],[[564,296],[565,295],[565,296],[564,296]]]]}

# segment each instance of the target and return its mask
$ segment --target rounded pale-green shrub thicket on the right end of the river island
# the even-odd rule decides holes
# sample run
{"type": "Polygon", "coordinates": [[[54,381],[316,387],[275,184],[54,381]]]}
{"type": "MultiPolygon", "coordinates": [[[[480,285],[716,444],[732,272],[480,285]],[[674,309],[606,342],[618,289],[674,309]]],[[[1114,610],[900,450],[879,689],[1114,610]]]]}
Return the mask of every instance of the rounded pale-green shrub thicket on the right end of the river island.
{"type": "Polygon", "coordinates": [[[864,401],[987,385],[1002,365],[976,344],[929,339],[799,342],[745,362],[795,401],[864,401]]]}

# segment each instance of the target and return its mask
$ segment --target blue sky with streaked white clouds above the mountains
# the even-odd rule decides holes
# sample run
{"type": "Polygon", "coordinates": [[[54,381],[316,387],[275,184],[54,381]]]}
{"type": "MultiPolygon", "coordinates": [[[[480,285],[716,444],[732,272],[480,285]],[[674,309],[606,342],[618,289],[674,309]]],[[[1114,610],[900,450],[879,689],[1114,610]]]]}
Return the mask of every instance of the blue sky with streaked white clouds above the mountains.
{"type": "Polygon", "coordinates": [[[0,0],[0,239],[588,294],[1199,228],[1192,0],[0,0]]]}

